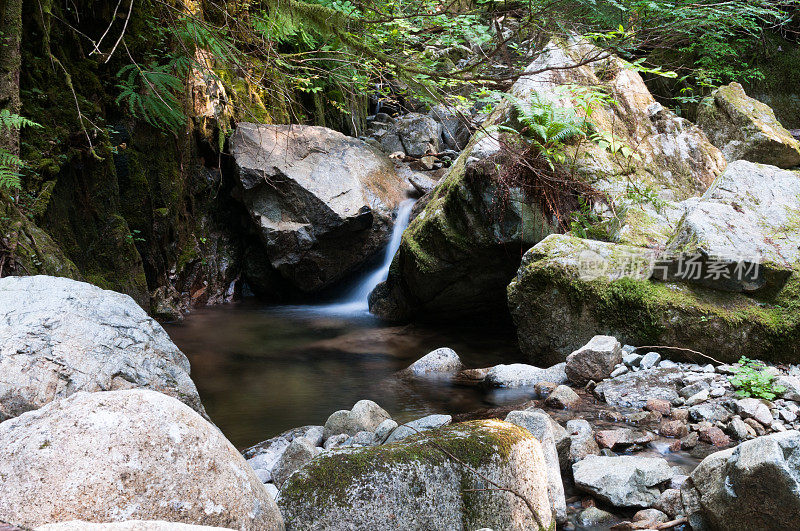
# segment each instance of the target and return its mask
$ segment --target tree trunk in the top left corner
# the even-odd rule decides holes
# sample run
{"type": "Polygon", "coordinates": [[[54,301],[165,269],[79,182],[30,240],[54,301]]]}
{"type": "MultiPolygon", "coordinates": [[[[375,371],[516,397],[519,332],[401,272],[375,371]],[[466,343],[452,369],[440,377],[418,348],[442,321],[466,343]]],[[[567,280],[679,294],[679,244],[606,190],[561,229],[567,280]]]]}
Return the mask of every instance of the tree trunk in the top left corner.
{"type": "MultiPolygon", "coordinates": [[[[0,109],[19,114],[19,69],[21,63],[22,0],[0,0],[0,109]]],[[[19,131],[0,130],[0,149],[19,154],[19,131]]]]}

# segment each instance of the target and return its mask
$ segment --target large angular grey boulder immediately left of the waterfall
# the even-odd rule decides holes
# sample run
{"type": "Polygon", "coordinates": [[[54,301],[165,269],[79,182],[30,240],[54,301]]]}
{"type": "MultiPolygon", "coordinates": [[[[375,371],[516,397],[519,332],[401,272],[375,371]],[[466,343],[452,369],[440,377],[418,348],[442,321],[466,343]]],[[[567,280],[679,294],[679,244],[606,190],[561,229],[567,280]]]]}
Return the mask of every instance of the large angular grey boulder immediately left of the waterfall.
{"type": "Polygon", "coordinates": [[[380,150],[324,127],[240,123],[231,154],[266,258],[295,288],[331,285],[388,241],[405,183],[380,150]]]}

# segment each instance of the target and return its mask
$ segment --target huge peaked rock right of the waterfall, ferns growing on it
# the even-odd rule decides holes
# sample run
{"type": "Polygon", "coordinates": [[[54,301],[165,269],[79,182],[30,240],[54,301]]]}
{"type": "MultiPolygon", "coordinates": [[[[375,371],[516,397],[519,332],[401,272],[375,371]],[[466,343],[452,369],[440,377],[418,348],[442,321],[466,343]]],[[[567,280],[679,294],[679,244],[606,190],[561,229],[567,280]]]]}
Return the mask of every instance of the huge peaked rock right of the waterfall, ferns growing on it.
{"type": "MultiPolygon", "coordinates": [[[[669,208],[660,212],[644,199],[629,200],[624,209],[617,209],[626,213],[616,234],[620,241],[658,243],[682,215],[672,202],[704,191],[724,169],[725,160],[699,128],[656,103],[639,74],[619,59],[565,68],[592,52],[579,41],[551,42],[510,93],[527,102],[538,94],[565,108],[575,105],[565,86],[604,87],[614,94],[619,104],[596,105],[592,121],[630,147],[641,164],[582,143],[574,153],[575,169],[611,196],[630,196],[626,190],[634,183],[668,202],[669,208]]],[[[511,115],[511,106],[504,102],[484,127],[511,126],[511,115]]],[[[501,286],[513,277],[520,251],[559,229],[520,189],[498,185],[495,168],[509,161],[497,136],[473,136],[411,223],[386,284],[373,294],[374,313],[403,320],[420,313],[441,317],[501,305],[501,286]]]]}

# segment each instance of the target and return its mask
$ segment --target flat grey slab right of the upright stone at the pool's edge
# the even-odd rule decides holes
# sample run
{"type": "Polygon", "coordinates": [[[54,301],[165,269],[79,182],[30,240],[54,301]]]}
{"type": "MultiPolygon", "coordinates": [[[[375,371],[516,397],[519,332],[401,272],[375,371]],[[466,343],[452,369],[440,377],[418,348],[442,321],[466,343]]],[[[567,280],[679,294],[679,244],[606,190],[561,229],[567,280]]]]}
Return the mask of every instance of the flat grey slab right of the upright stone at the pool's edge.
{"type": "Polygon", "coordinates": [[[595,393],[610,406],[643,408],[648,400],[672,401],[678,396],[676,382],[680,380],[677,369],[651,369],[630,372],[597,385],[595,393]]]}

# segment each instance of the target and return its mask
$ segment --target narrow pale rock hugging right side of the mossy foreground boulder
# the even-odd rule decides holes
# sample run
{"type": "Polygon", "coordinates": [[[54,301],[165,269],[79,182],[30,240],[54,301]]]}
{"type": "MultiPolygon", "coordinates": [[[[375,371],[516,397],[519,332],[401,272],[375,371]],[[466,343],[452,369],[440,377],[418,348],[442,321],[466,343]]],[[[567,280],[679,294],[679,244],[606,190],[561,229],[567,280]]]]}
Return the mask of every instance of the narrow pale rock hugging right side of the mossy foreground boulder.
{"type": "Polygon", "coordinates": [[[525,428],[541,443],[547,464],[547,491],[550,505],[555,511],[556,522],[563,524],[567,520],[567,503],[564,498],[564,484],[561,481],[561,464],[556,447],[557,435],[553,428],[555,421],[545,413],[512,411],[506,416],[506,422],[525,428]]]}

